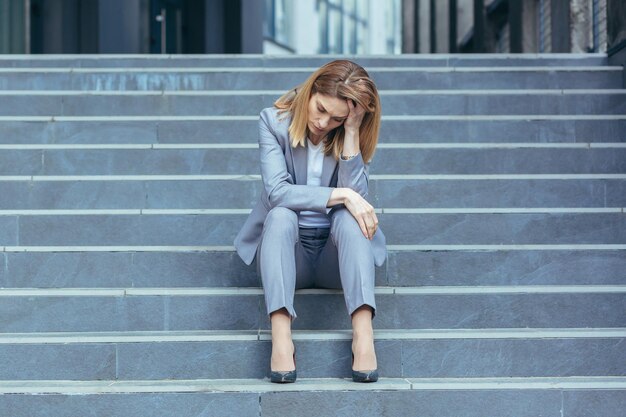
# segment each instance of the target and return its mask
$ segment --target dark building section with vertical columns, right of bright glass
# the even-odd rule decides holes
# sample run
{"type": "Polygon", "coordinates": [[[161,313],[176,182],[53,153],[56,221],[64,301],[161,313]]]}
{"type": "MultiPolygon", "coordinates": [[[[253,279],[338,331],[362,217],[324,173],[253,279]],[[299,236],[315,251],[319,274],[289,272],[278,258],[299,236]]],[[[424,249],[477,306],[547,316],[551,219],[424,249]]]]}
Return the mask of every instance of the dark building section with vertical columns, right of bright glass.
{"type": "Polygon", "coordinates": [[[621,13],[615,3],[403,0],[403,52],[607,52],[609,9],[621,13]]]}

